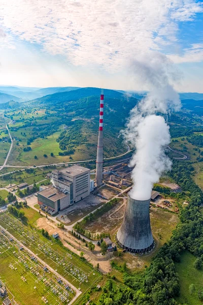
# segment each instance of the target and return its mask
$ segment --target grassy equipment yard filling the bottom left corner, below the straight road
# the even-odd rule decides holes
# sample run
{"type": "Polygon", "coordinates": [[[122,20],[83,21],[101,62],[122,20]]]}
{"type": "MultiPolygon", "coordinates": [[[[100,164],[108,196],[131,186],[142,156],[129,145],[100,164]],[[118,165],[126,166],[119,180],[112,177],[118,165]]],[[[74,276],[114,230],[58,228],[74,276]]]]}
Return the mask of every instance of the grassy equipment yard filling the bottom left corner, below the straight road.
{"type": "Polygon", "coordinates": [[[6,231],[0,232],[1,280],[21,305],[62,305],[75,291],[6,231]]]}

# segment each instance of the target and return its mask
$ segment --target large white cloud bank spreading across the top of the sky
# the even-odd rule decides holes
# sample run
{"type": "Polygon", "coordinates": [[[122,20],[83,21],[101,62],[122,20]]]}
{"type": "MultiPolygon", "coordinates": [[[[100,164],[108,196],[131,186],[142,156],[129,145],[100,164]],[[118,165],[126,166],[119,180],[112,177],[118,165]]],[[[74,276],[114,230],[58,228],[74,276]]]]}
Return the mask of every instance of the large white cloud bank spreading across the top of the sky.
{"type": "Polygon", "coordinates": [[[1,0],[0,25],[74,65],[122,69],[128,58],[176,41],[179,21],[202,11],[194,0],[1,0]]]}

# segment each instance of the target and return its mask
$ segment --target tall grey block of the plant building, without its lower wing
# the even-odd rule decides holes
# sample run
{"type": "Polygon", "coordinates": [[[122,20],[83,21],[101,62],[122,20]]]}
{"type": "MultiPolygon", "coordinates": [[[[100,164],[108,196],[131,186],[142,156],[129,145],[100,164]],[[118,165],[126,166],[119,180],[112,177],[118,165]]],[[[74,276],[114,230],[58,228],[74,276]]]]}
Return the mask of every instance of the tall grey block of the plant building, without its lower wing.
{"type": "Polygon", "coordinates": [[[62,170],[52,171],[54,187],[70,195],[74,204],[90,194],[90,169],[74,165],[62,170]]]}

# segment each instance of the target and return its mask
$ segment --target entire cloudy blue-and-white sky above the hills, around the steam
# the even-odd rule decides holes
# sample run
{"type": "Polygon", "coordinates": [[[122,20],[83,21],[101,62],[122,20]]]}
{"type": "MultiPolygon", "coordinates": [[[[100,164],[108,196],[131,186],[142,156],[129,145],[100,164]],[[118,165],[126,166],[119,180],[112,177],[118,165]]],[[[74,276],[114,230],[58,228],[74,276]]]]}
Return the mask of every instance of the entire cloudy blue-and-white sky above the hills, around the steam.
{"type": "Polygon", "coordinates": [[[133,60],[158,53],[177,90],[203,93],[202,2],[0,0],[0,84],[143,90],[133,60]]]}

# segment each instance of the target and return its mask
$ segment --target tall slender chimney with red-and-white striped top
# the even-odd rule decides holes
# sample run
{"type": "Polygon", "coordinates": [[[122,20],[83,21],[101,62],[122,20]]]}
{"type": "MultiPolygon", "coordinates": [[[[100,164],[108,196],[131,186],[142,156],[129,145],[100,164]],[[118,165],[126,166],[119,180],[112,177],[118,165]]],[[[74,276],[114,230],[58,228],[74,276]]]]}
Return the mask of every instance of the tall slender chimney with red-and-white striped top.
{"type": "Polygon", "coordinates": [[[104,114],[104,90],[101,89],[100,111],[99,111],[99,129],[98,145],[96,155],[96,186],[103,185],[103,114],[104,114]]]}

